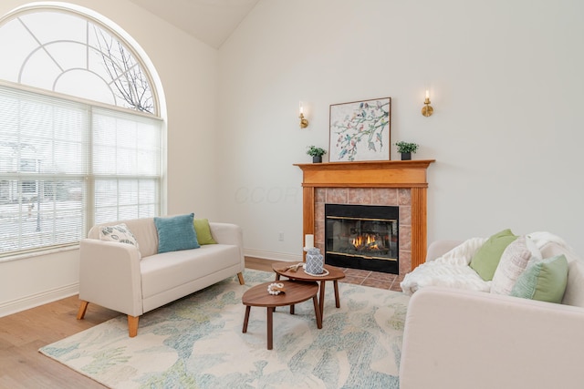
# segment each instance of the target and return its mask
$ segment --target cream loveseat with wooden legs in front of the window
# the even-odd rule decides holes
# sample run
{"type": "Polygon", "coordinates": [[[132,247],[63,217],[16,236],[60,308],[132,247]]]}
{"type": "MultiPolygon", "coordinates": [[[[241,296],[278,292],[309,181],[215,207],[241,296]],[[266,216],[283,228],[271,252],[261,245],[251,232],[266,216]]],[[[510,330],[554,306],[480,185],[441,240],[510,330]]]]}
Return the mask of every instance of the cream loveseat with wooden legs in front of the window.
{"type": "Polygon", "coordinates": [[[138,333],[139,317],[168,302],[237,274],[243,285],[243,232],[228,223],[209,223],[217,244],[191,250],[158,253],[153,218],[123,220],[94,226],[80,243],[78,319],[88,303],[128,315],[130,337],[138,333]],[[139,247],[99,240],[103,226],[125,223],[139,247]]]}

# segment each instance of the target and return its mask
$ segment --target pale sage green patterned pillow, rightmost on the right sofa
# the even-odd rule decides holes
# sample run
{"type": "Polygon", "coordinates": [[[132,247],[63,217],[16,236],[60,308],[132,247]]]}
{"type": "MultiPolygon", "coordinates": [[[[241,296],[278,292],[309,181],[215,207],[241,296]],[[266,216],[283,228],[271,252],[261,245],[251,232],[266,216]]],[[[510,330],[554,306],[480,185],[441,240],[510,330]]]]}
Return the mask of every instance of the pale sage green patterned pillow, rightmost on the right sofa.
{"type": "Polygon", "coordinates": [[[561,303],[567,284],[568,260],[561,254],[528,264],[511,290],[511,296],[561,303]]]}

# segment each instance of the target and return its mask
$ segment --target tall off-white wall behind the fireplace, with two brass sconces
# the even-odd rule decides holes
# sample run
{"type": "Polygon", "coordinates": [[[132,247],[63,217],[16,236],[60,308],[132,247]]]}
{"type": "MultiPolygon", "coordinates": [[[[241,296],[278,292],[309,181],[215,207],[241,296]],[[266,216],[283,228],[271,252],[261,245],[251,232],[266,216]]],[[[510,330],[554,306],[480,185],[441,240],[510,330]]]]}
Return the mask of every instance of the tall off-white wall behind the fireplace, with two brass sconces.
{"type": "Polygon", "coordinates": [[[330,104],[392,97],[392,143],[436,159],[429,241],[548,230],[584,255],[581,15],[579,0],[261,0],[219,50],[222,218],[248,254],[299,258],[293,164],[328,148],[330,104]]]}

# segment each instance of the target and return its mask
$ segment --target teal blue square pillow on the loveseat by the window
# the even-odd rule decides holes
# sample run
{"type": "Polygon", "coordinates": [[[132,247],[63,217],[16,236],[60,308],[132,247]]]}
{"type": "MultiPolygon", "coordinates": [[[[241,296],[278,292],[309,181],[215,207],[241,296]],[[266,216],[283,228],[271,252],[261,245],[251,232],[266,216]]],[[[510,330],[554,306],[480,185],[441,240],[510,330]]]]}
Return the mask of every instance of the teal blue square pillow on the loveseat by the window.
{"type": "Polygon", "coordinates": [[[197,234],[193,226],[194,213],[168,218],[154,218],[158,233],[158,253],[198,249],[197,234]]]}

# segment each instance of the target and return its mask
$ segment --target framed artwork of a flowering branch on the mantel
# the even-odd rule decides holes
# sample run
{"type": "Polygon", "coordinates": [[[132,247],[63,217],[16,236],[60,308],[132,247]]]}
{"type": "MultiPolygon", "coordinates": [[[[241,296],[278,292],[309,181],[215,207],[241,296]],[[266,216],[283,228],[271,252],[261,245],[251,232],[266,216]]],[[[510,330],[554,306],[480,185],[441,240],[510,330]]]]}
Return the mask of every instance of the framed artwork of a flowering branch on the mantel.
{"type": "Polygon", "coordinates": [[[389,160],[391,97],[330,106],[328,160],[389,160]]]}

